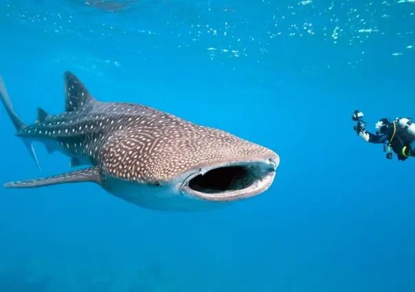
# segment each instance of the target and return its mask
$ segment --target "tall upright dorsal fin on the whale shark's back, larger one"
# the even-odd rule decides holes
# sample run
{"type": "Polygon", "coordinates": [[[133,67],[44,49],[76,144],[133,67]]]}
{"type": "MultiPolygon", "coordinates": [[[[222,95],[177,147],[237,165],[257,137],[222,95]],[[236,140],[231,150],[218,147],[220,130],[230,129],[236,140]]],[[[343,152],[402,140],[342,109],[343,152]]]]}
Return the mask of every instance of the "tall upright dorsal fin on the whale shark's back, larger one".
{"type": "Polygon", "coordinates": [[[65,80],[65,111],[71,112],[85,104],[95,101],[84,84],[73,73],[66,71],[65,80]]]}

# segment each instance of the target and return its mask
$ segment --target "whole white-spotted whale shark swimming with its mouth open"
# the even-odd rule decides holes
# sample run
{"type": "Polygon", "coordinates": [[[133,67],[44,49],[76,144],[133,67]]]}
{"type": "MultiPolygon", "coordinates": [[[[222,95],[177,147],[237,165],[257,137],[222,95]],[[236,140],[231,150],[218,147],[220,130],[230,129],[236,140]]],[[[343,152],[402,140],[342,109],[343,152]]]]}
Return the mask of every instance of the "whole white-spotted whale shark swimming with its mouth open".
{"type": "MultiPolygon", "coordinates": [[[[100,102],[66,72],[65,112],[26,125],[0,77],[0,97],[32,158],[33,141],[71,158],[61,175],[6,187],[95,182],[109,193],[153,210],[195,211],[253,197],[271,186],[279,156],[260,145],[139,104],[100,102]]],[[[39,165],[39,164],[38,164],[39,165]]]]}

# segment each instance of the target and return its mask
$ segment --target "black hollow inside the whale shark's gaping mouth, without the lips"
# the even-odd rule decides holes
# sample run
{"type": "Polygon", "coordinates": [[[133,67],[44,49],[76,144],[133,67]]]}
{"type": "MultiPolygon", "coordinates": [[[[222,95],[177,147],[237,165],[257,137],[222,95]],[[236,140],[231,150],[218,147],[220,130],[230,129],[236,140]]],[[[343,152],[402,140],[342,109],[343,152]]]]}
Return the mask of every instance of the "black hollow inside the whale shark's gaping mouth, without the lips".
{"type": "Polygon", "coordinates": [[[223,193],[247,188],[258,181],[258,167],[232,166],[219,167],[197,175],[189,181],[189,187],[200,193],[223,193]]]}

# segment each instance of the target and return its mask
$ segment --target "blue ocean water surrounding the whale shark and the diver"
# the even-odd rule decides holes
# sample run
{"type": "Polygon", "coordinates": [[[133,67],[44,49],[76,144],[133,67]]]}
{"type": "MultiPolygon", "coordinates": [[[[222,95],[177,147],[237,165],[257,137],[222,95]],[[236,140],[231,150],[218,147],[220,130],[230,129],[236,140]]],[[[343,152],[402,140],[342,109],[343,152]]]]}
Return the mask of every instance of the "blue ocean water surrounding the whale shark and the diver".
{"type": "MultiPolygon", "coordinates": [[[[353,131],[415,118],[415,3],[2,0],[0,74],[16,112],[64,110],[63,73],[280,155],[266,193],[199,213],[93,184],[0,188],[0,291],[414,292],[415,160],[353,131]]],[[[4,110],[1,182],[68,171],[4,110]]]]}

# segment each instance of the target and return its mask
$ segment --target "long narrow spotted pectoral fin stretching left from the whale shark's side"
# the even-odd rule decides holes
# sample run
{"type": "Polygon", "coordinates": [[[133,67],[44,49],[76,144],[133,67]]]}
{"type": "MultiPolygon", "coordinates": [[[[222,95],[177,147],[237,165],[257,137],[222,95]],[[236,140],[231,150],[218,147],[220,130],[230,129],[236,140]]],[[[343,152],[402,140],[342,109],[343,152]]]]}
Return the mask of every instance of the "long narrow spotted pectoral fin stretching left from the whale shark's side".
{"type": "Polygon", "coordinates": [[[71,182],[96,182],[101,183],[99,167],[89,167],[49,176],[47,178],[36,178],[34,180],[22,180],[20,182],[7,182],[6,188],[38,188],[40,186],[52,186],[54,184],[69,184],[71,182]]]}

